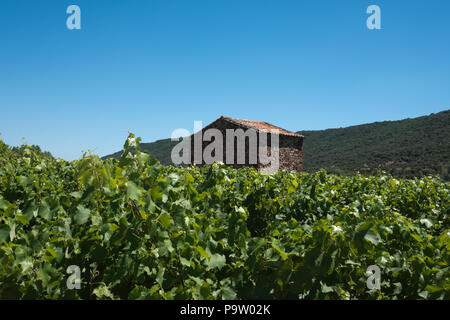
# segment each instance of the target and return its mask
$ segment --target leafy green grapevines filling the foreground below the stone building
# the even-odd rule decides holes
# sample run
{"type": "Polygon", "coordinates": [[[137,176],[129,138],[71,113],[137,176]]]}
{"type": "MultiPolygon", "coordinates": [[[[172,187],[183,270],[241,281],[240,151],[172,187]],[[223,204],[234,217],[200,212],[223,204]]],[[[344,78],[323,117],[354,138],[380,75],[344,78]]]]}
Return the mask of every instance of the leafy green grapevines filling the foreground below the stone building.
{"type": "Polygon", "coordinates": [[[450,299],[449,182],[163,166],[139,141],[0,142],[0,299],[450,299]]]}

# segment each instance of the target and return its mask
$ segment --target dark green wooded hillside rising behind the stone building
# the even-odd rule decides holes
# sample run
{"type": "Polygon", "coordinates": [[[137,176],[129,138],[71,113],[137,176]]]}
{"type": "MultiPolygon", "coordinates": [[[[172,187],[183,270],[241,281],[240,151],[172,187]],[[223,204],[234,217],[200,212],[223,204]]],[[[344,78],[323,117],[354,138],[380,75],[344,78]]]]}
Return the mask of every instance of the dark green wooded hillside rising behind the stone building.
{"type": "MultiPolygon", "coordinates": [[[[374,122],[338,129],[299,131],[305,139],[304,170],[374,174],[396,177],[440,175],[450,179],[450,110],[399,121],[374,122]]],[[[141,150],[171,164],[177,142],[170,139],[142,143],[141,150]]],[[[116,152],[104,158],[119,158],[116,152]]]]}

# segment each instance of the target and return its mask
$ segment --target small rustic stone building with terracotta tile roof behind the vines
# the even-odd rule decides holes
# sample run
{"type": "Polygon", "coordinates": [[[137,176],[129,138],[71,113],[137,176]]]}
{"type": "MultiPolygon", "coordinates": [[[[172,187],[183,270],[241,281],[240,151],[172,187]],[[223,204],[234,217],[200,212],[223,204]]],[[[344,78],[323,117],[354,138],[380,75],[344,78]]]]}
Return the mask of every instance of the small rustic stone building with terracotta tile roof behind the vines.
{"type": "Polygon", "coordinates": [[[191,163],[301,172],[304,136],[262,121],[220,117],[190,136],[191,163]]]}

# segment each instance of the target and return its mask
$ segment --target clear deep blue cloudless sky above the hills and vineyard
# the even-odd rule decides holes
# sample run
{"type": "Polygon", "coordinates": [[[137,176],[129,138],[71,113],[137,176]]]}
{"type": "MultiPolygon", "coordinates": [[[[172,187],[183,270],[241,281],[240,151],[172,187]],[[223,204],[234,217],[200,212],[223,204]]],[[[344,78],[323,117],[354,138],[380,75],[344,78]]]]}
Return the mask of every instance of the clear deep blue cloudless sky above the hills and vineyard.
{"type": "Polygon", "coordinates": [[[297,131],[436,113],[449,19],[448,0],[2,0],[0,137],[73,160],[221,115],[297,131]]]}

